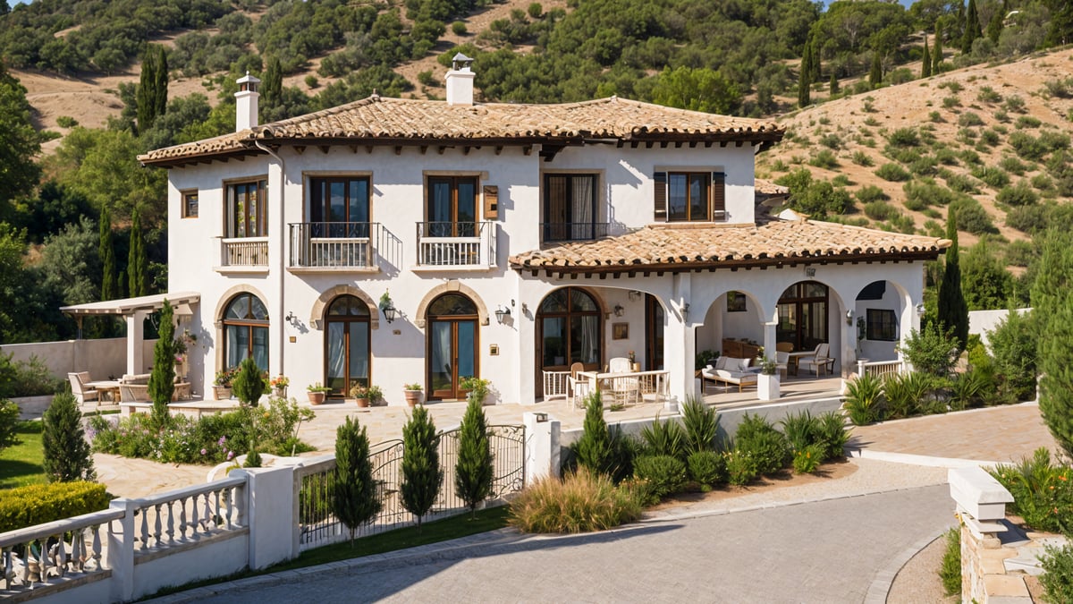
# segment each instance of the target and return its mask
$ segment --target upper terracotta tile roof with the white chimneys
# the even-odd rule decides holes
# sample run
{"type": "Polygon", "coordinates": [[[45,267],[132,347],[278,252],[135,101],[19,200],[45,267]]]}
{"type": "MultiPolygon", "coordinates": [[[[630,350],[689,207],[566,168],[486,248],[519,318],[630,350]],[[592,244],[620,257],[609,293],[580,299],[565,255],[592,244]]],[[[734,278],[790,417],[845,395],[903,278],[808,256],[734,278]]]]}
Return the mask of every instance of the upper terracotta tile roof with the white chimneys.
{"type": "Polygon", "coordinates": [[[611,97],[562,104],[476,103],[372,96],[251,130],[149,152],[143,163],[253,152],[253,141],[292,144],[580,144],[622,142],[770,143],[784,129],[770,120],[686,111],[611,97]]]}

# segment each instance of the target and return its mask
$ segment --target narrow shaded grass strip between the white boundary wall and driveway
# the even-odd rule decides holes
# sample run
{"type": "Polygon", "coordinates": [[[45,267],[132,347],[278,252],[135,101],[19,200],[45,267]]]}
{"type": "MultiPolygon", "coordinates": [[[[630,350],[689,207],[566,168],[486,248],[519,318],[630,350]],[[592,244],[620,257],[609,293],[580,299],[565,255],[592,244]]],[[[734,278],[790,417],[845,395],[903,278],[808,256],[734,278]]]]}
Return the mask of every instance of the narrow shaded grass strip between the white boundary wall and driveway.
{"type": "Polygon", "coordinates": [[[178,593],[189,589],[196,589],[207,585],[218,585],[225,581],[255,577],[258,575],[291,571],[294,569],[305,569],[307,566],[317,566],[328,562],[338,562],[341,560],[361,558],[363,556],[397,551],[399,549],[416,547],[418,545],[440,543],[469,535],[475,535],[477,533],[495,531],[496,529],[506,527],[509,515],[510,506],[501,505],[498,507],[479,510],[476,513],[476,517],[472,520],[470,519],[469,514],[461,514],[444,518],[442,520],[437,520],[435,522],[426,522],[422,526],[421,532],[417,531],[417,527],[395,529],[394,531],[387,531],[386,533],[379,533],[354,540],[353,547],[351,547],[349,542],[343,542],[325,545],[315,549],[308,549],[298,555],[298,557],[294,560],[280,562],[279,564],[261,571],[239,571],[238,573],[234,573],[225,577],[196,580],[175,587],[164,587],[157,591],[157,593],[146,596],[146,599],[160,598],[162,595],[178,593]]]}

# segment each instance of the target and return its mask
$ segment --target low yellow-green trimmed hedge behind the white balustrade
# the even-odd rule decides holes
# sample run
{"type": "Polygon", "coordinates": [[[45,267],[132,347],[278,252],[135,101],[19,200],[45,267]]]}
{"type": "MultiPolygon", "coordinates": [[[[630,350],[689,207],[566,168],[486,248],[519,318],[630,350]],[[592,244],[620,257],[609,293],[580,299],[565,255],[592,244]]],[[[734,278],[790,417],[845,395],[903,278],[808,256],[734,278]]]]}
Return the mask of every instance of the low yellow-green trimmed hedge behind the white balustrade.
{"type": "Polygon", "coordinates": [[[0,533],[62,520],[108,507],[99,483],[53,483],[9,489],[0,498],[0,533]]]}

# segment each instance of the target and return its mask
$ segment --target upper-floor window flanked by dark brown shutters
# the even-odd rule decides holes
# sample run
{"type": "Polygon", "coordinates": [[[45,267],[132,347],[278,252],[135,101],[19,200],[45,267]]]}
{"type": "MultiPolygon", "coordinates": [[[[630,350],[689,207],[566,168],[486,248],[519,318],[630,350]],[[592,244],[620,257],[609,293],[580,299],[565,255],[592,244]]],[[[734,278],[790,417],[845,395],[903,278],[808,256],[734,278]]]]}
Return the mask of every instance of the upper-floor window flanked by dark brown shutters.
{"type": "Polygon", "coordinates": [[[657,172],[653,182],[657,220],[726,219],[725,175],[722,172],[657,172]]]}

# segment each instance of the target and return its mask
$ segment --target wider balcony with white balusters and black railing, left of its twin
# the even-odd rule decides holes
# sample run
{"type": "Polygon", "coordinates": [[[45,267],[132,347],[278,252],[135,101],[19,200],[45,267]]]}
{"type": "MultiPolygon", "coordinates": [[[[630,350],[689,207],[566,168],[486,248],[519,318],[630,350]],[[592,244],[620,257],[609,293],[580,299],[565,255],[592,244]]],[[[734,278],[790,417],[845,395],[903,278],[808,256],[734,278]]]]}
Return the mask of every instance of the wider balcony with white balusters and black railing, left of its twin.
{"type": "Polygon", "coordinates": [[[297,222],[291,225],[292,270],[376,270],[377,222],[297,222]]]}

